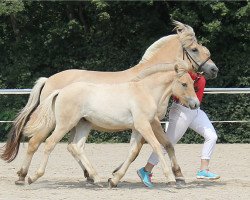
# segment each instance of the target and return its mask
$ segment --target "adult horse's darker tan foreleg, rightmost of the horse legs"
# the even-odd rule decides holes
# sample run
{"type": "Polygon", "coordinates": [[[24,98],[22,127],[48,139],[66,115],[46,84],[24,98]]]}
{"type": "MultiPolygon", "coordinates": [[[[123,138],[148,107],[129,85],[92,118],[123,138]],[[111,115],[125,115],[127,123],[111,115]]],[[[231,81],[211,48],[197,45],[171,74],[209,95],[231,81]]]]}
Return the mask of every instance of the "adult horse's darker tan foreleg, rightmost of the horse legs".
{"type": "Polygon", "coordinates": [[[154,131],[156,138],[158,139],[158,141],[161,143],[161,145],[168,152],[168,156],[169,156],[171,163],[172,163],[172,171],[175,175],[176,181],[185,182],[183,174],[181,172],[181,168],[180,168],[179,164],[177,163],[174,147],[173,147],[172,143],[169,141],[169,139],[167,138],[167,135],[164,133],[159,119],[156,118],[151,123],[151,126],[152,126],[152,129],[154,131]]]}

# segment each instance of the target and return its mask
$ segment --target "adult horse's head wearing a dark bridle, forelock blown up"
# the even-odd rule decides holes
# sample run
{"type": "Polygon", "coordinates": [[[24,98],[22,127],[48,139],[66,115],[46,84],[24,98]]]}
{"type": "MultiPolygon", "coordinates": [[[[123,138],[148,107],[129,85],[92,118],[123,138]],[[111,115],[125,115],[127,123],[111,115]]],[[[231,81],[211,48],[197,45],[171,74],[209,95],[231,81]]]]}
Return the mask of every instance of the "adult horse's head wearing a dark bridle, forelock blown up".
{"type": "Polygon", "coordinates": [[[174,25],[182,44],[183,59],[187,58],[194,71],[203,72],[206,79],[216,78],[219,69],[211,60],[209,50],[197,42],[193,28],[178,21],[174,25]]]}

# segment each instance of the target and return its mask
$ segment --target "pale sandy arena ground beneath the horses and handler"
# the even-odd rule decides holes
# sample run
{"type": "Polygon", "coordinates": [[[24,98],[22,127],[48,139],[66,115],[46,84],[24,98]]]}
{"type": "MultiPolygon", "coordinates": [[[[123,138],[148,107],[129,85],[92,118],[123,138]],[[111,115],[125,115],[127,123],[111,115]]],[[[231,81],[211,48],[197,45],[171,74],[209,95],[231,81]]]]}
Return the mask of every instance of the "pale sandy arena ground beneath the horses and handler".
{"type": "MultiPolygon", "coordinates": [[[[15,185],[16,172],[26,147],[27,144],[21,145],[20,153],[12,163],[0,161],[1,200],[250,199],[250,144],[217,145],[210,167],[211,171],[221,175],[221,179],[217,181],[201,181],[195,178],[202,145],[179,144],[176,146],[176,154],[187,184],[182,188],[166,186],[160,166],[157,166],[153,176],[154,189],[144,187],[136,174],[136,170],[145,164],[151,152],[148,145],[144,145],[140,155],[115,189],[108,188],[107,179],[112,170],[125,159],[129,144],[87,144],[87,155],[102,177],[104,188],[86,183],[80,167],[67,152],[66,144],[56,146],[42,178],[32,185],[15,185]]],[[[43,145],[33,158],[30,173],[34,173],[38,167],[42,149],[43,145]]]]}

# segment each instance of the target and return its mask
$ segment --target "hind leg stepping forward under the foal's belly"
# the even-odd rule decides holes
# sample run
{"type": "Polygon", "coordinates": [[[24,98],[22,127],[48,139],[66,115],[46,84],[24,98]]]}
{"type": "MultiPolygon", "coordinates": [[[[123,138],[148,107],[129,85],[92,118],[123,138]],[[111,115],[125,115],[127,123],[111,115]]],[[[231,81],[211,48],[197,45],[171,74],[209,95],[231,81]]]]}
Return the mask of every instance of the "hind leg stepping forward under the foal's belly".
{"type": "Polygon", "coordinates": [[[74,139],[68,145],[68,150],[77,160],[83,169],[84,174],[89,176],[87,179],[91,182],[93,181],[94,183],[99,183],[101,179],[84,152],[85,142],[88,138],[91,128],[92,126],[89,122],[79,121],[75,127],[76,131],[74,139]]]}

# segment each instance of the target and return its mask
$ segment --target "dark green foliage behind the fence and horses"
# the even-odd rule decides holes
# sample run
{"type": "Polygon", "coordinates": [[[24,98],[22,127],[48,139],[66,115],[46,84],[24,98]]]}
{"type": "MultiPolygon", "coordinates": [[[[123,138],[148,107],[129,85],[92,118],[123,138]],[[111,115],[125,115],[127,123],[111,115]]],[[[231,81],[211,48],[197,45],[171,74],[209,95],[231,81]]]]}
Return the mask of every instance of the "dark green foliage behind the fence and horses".
{"type": "MultiPolygon", "coordinates": [[[[65,69],[124,70],[138,63],[171,19],[191,25],[220,69],[207,87],[249,87],[248,1],[21,1],[0,2],[0,88],[31,88],[65,69]]],[[[63,81],[63,80],[62,80],[63,81]]],[[[0,95],[0,120],[13,120],[26,95],[0,95]]],[[[211,120],[250,120],[250,98],[206,95],[211,120]]],[[[167,116],[166,116],[167,118],[167,116]]],[[[0,141],[10,124],[0,124],[0,141]]],[[[249,123],[214,124],[218,142],[249,143],[249,123]]],[[[66,138],[65,138],[66,139],[66,138]]],[[[202,142],[188,131],[182,142],[202,142]]],[[[90,142],[128,142],[129,132],[93,132],[90,142]]]]}

